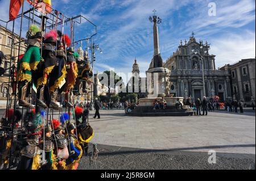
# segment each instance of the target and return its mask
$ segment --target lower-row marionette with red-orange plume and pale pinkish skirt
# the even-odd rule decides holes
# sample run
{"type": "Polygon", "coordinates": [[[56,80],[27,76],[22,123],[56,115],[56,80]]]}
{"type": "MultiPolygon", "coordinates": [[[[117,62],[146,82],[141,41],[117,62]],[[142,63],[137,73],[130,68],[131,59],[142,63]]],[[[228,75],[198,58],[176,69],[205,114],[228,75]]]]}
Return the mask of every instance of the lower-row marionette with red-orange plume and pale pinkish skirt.
{"type": "Polygon", "coordinates": [[[57,170],[65,170],[65,160],[69,157],[68,140],[65,138],[64,128],[62,125],[60,125],[60,122],[53,119],[52,124],[55,133],[55,140],[53,141],[55,144],[54,154],[57,157],[53,164],[57,170]]]}

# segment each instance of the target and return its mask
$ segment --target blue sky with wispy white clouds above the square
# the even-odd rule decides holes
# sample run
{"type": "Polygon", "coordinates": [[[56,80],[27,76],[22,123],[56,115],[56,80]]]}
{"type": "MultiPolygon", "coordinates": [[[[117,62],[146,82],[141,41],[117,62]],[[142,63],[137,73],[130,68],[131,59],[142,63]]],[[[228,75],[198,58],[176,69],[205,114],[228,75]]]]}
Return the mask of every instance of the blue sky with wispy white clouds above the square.
{"type": "MultiPolygon", "coordinates": [[[[153,54],[153,24],[148,16],[154,9],[162,19],[159,45],[163,60],[192,31],[197,40],[211,44],[209,53],[216,54],[216,67],[255,57],[254,0],[52,0],[52,6],[67,16],[82,14],[97,25],[95,41],[104,53],[96,54],[95,71],[114,68],[117,73],[129,73],[135,57],[141,72],[148,69],[153,54]],[[210,2],[216,3],[216,16],[208,15],[210,2]]],[[[1,0],[0,19],[8,18],[8,9],[9,1],[1,0]]],[[[89,36],[93,27],[85,22],[76,31],[78,40],[89,36]]]]}

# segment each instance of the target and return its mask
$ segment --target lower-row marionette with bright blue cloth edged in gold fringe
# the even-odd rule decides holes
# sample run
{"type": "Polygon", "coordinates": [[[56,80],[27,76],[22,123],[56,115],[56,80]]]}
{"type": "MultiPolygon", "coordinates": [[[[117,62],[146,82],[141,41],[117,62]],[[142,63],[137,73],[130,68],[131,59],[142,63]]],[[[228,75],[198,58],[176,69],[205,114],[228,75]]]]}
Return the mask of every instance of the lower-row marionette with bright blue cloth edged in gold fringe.
{"type": "Polygon", "coordinates": [[[69,122],[67,124],[67,134],[69,142],[69,157],[66,160],[65,170],[76,170],[78,166],[78,162],[82,157],[82,148],[77,140],[77,136],[75,134],[76,126],[75,124],[69,122]]]}

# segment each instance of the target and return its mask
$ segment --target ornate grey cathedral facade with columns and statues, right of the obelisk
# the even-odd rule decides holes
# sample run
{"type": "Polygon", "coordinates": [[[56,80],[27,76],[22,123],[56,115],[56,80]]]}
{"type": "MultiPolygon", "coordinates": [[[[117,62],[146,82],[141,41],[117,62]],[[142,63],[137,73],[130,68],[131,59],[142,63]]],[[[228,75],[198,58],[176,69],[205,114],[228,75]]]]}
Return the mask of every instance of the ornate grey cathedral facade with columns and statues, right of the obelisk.
{"type": "Polygon", "coordinates": [[[198,43],[193,35],[184,44],[180,41],[176,52],[164,64],[171,70],[170,93],[174,96],[191,96],[192,100],[202,99],[204,85],[207,98],[214,95],[220,96],[221,101],[232,98],[228,69],[216,70],[215,55],[209,54],[209,44],[207,41],[204,44],[203,40],[198,43]]]}

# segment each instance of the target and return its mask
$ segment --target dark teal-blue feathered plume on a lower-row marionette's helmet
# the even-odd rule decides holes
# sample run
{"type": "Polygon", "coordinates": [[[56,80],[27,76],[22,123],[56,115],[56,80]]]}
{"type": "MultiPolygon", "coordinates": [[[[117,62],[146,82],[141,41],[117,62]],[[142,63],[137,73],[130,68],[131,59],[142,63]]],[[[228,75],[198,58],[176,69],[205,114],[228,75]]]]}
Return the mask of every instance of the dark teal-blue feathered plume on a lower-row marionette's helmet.
{"type": "Polygon", "coordinates": [[[28,133],[39,132],[42,124],[42,118],[40,114],[34,112],[26,112],[24,117],[24,128],[28,133]]]}

